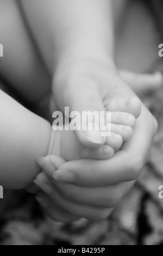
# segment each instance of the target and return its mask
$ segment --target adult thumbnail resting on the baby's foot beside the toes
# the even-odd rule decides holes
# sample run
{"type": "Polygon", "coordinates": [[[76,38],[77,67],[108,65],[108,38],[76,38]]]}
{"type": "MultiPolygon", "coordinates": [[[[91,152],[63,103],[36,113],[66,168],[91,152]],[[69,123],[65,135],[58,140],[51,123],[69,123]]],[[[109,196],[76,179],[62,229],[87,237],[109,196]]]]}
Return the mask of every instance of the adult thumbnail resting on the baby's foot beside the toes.
{"type": "Polygon", "coordinates": [[[92,143],[96,144],[103,144],[105,143],[105,136],[103,136],[103,133],[105,131],[105,128],[99,127],[99,124],[95,123],[89,123],[85,124],[82,128],[83,131],[83,137],[92,143]]]}

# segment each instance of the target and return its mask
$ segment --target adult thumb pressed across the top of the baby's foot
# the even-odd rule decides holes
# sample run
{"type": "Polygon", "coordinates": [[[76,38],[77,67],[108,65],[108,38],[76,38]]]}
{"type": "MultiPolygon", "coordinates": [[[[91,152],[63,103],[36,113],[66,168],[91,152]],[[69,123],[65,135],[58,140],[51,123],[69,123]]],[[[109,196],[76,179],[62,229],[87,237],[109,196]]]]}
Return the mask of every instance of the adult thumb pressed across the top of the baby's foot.
{"type": "Polygon", "coordinates": [[[101,147],[106,141],[106,112],[101,95],[92,81],[72,81],[67,105],[70,106],[71,129],[85,148],[101,147]]]}

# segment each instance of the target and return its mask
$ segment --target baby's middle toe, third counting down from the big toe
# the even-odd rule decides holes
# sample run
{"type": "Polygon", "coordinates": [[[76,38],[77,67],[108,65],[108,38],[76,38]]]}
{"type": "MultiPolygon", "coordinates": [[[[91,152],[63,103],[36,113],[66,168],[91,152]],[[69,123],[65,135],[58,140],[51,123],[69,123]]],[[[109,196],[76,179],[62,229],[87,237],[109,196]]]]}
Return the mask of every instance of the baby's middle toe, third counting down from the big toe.
{"type": "Polygon", "coordinates": [[[133,135],[133,129],[126,125],[111,124],[111,132],[121,135],[123,141],[128,141],[133,135]]]}

